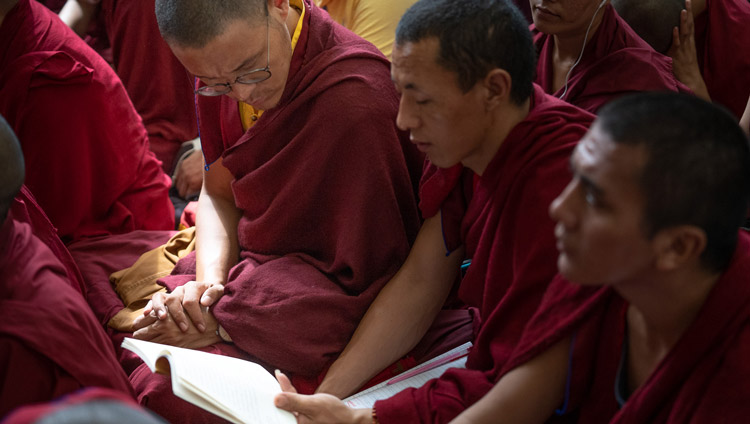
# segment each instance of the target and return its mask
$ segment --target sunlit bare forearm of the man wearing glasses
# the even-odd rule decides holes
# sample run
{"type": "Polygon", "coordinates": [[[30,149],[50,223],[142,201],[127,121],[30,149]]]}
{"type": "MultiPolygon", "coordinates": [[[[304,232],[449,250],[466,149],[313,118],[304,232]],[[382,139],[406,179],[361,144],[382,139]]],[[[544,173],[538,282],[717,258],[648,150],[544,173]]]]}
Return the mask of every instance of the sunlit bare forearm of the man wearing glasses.
{"type": "Polygon", "coordinates": [[[196,280],[225,284],[229,270],[239,260],[237,225],[241,211],[233,202],[205,190],[196,218],[196,280]]]}

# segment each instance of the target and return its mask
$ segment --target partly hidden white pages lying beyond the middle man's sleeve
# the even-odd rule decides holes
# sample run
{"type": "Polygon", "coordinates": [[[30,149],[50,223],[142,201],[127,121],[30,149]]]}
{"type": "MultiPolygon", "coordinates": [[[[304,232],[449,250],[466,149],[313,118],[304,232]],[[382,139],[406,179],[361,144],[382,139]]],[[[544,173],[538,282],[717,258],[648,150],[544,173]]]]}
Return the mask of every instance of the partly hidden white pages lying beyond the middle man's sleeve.
{"type": "Polygon", "coordinates": [[[420,387],[427,381],[440,377],[448,368],[466,368],[466,355],[471,346],[471,342],[464,343],[389,380],[355,393],[344,399],[344,403],[352,408],[372,408],[376,401],[388,399],[410,387],[420,387]]]}

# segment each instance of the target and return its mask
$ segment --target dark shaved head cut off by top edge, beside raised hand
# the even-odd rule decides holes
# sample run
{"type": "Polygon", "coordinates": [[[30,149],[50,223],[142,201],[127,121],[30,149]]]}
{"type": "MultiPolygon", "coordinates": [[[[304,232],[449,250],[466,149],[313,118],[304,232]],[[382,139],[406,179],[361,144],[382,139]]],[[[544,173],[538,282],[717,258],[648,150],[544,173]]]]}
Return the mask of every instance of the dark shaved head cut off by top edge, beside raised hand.
{"type": "Polygon", "coordinates": [[[672,45],[672,29],[680,25],[683,0],[612,0],[625,22],[659,53],[672,45]]]}

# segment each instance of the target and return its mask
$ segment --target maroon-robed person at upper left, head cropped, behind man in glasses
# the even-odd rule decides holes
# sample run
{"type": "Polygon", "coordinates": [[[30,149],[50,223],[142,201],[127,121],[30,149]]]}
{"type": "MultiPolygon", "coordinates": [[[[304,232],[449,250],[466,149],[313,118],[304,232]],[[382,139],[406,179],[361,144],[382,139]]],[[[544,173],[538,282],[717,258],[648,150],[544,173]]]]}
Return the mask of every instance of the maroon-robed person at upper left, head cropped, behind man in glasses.
{"type": "Polygon", "coordinates": [[[60,19],[80,36],[92,21],[101,21],[112,65],[143,119],[151,151],[164,172],[174,175],[177,194],[197,195],[203,155],[195,140],[194,81],[159,34],[154,0],[68,0],[60,19]]]}

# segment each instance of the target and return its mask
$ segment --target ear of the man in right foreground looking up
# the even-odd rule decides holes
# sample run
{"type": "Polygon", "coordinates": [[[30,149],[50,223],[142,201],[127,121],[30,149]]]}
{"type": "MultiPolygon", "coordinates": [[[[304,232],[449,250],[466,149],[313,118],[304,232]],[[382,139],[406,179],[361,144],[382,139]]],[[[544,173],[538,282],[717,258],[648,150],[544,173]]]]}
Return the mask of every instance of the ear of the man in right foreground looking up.
{"type": "Polygon", "coordinates": [[[653,238],[656,267],[671,271],[700,260],[706,249],[706,232],[693,225],[659,231],[653,238]]]}

